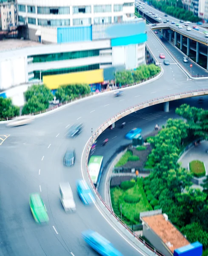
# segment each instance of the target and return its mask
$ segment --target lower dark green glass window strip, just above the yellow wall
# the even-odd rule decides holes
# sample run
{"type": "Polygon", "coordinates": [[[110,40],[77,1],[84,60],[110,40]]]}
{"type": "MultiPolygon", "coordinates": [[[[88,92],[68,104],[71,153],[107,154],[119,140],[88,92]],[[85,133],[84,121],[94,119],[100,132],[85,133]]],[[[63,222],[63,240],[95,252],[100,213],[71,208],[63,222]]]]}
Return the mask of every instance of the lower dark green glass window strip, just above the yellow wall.
{"type": "MultiPolygon", "coordinates": [[[[71,67],[65,69],[58,69],[58,70],[46,70],[41,71],[41,80],[43,80],[43,76],[51,76],[51,75],[60,75],[60,74],[67,74],[72,72],[81,72],[81,71],[88,71],[88,70],[97,70],[100,69],[100,64],[93,64],[83,67],[71,67]]],[[[40,70],[34,71],[34,79],[40,80],[40,70]]]]}

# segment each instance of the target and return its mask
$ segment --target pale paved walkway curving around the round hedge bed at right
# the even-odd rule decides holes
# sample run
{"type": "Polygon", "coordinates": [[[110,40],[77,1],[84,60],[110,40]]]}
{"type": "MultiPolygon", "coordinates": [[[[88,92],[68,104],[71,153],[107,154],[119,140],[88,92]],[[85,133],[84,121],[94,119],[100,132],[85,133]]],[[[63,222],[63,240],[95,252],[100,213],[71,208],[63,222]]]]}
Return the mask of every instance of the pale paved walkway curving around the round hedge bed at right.
{"type": "Polygon", "coordinates": [[[197,147],[191,148],[181,159],[182,167],[188,168],[188,164],[192,160],[199,160],[204,162],[205,169],[208,175],[208,141],[205,141],[197,147]]]}

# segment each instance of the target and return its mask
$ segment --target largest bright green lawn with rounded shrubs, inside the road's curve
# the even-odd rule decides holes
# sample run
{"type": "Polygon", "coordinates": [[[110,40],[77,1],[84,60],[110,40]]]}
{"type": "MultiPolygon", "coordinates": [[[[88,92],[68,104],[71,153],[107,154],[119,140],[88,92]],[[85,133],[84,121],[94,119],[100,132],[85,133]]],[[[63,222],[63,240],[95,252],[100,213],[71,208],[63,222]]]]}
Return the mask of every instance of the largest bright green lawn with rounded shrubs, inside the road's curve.
{"type": "Polygon", "coordinates": [[[122,204],[122,216],[123,216],[122,220],[126,224],[139,224],[140,221],[137,217],[140,214],[140,212],[152,210],[152,207],[149,204],[143,189],[142,178],[138,178],[135,186],[125,191],[120,188],[112,188],[111,203],[112,203],[114,212],[118,216],[120,216],[120,204],[122,204]],[[139,200],[140,198],[140,201],[137,203],[125,202],[126,198],[133,198],[133,197],[137,198],[137,200],[139,200]],[[117,213],[118,211],[119,211],[119,214],[117,213]]]}

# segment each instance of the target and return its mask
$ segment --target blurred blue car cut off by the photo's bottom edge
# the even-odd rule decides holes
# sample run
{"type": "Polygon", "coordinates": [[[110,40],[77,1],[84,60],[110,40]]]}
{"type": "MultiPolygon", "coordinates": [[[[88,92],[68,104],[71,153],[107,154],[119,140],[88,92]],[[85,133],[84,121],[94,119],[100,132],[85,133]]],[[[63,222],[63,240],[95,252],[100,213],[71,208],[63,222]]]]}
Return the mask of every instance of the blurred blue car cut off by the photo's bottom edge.
{"type": "Polygon", "coordinates": [[[102,256],[123,256],[107,239],[92,230],[82,233],[85,242],[102,256]]]}

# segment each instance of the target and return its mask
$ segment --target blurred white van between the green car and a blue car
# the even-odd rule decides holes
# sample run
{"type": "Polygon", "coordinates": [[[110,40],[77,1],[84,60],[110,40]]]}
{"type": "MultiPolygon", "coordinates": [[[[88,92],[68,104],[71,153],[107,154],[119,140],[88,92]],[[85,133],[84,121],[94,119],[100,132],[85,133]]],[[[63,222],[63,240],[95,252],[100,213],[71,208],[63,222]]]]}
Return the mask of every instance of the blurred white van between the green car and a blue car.
{"type": "Polygon", "coordinates": [[[73,192],[68,182],[59,184],[60,199],[66,212],[76,212],[73,192]]]}

